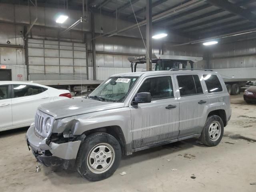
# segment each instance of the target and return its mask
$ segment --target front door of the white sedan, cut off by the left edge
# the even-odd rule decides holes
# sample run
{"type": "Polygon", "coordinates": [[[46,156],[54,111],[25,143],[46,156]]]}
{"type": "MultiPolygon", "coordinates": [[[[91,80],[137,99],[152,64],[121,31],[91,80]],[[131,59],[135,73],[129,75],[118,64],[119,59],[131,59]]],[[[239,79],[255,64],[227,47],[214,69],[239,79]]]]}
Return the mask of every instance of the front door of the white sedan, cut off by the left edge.
{"type": "Polygon", "coordinates": [[[11,86],[0,85],[0,129],[12,126],[11,86]]]}

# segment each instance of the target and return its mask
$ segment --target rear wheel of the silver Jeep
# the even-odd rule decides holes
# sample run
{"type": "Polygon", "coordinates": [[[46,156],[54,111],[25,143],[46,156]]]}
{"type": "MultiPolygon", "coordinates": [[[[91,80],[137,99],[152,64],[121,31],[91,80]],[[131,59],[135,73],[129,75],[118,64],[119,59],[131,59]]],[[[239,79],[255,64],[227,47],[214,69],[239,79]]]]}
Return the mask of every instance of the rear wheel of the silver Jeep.
{"type": "Polygon", "coordinates": [[[200,140],[206,146],[216,146],[220,143],[224,132],[224,124],[220,116],[212,115],[206,119],[200,140]],[[214,126],[217,126],[214,129],[214,126]],[[219,129],[219,131],[218,131],[219,129]],[[215,132],[215,134],[214,134],[215,132]],[[218,135],[216,133],[218,132],[218,135]],[[213,133],[213,134],[212,134],[213,133]],[[214,138],[216,136],[216,138],[214,138]]]}

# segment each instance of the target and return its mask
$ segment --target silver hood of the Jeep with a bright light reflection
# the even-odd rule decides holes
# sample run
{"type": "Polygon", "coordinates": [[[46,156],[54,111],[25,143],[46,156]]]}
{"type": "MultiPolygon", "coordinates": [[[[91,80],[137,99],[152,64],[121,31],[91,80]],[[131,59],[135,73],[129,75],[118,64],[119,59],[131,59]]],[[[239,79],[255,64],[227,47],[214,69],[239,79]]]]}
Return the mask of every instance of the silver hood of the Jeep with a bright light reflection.
{"type": "Polygon", "coordinates": [[[124,103],[102,102],[94,99],[71,98],[39,106],[39,110],[55,119],[124,107],[124,103]]]}

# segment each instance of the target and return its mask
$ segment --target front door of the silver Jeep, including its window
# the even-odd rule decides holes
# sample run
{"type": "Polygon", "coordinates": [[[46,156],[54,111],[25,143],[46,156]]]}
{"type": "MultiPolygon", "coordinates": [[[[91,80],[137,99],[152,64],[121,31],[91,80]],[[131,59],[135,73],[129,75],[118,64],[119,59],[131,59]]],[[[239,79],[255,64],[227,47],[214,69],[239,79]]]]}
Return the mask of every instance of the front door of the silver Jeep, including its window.
{"type": "Polygon", "coordinates": [[[130,106],[134,148],[178,137],[179,102],[173,82],[172,75],[149,76],[137,88],[136,93],[150,92],[152,101],[130,106]]]}

